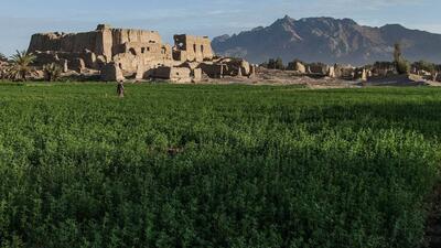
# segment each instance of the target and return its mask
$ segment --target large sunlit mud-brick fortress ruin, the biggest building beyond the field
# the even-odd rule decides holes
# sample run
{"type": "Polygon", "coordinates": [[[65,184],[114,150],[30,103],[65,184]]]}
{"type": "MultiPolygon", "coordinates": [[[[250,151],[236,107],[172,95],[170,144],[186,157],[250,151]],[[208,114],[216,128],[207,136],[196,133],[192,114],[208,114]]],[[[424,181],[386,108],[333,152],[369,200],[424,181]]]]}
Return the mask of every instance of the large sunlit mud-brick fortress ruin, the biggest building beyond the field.
{"type": "Polygon", "coordinates": [[[34,34],[29,46],[35,66],[57,63],[64,72],[100,74],[103,80],[161,78],[197,82],[208,77],[251,76],[243,60],[215,57],[206,36],[175,35],[174,46],[155,31],[112,29],[100,24],[85,33],[34,34]]]}

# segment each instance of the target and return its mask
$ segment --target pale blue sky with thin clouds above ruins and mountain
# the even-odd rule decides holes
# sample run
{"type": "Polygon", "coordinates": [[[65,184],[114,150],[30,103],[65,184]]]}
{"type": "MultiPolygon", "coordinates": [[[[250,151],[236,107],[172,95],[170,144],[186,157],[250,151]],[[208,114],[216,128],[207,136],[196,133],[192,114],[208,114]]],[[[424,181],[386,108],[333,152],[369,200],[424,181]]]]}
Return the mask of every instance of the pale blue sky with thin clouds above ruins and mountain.
{"type": "Polygon", "coordinates": [[[1,0],[0,52],[29,45],[36,32],[94,30],[98,23],[211,37],[268,25],[289,14],[352,18],[365,25],[400,23],[441,33],[440,0],[1,0]]]}

